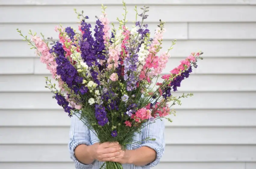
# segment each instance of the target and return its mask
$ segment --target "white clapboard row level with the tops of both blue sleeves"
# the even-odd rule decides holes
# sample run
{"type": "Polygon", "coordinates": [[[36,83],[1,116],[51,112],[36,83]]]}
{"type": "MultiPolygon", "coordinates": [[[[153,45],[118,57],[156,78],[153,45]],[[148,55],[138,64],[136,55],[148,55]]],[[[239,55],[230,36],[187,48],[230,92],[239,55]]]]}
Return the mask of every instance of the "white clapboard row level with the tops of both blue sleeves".
{"type": "MultiPolygon", "coordinates": [[[[170,127],[255,127],[255,109],[248,110],[177,110],[176,117],[170,115],[172,123],[165,120],[170,127]]],[[[0,110],[0,126],[45,126],[67,127],[70,118],[63,110],[0,110]]]]}

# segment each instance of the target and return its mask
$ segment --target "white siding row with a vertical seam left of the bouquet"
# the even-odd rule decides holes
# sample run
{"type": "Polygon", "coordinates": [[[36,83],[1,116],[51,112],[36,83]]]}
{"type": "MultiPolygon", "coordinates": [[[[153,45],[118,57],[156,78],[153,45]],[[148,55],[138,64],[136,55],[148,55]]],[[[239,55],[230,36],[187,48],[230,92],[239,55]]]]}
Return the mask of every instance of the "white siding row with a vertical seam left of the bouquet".
{"type": "MultiPolygon", "coordinates": [[[[185,59],[185,57],[184,57],[185,59]]],[[[167,63],[163,74],[180,64],[180,58],[172,57],[167,63]]],[[[0,74],[48,74],[46,65],[40,62],[40,58],[0,58],[0,74]],[[20,69],[14,69],[20,67],[20,69]]],[[[255,74],[256,58],[205,58],[198,61],[198,68],[192,73],[198,74],[255,74]],[[239,64],[236,64],[239,63],[239,64]],[[236,66],[234,66],[236,65],[236,66]],[[244,66],[246,65],[246,67],[244,66]]]]}

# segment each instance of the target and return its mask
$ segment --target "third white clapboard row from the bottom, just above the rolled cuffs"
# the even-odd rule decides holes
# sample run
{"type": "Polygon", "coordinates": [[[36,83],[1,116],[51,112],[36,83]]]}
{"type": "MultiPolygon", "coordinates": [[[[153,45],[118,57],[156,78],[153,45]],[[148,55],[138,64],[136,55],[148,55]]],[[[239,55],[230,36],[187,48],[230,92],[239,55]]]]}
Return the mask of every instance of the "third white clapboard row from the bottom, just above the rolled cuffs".
{"type": "MultiPolygon", "coordinates": [[[[0,144],[67,144],[69,130],[70,127],[0,127],[0,144]]],[[[166,127],[165,143],[255,145],[255,132],[256,127],[166,127]]]]}

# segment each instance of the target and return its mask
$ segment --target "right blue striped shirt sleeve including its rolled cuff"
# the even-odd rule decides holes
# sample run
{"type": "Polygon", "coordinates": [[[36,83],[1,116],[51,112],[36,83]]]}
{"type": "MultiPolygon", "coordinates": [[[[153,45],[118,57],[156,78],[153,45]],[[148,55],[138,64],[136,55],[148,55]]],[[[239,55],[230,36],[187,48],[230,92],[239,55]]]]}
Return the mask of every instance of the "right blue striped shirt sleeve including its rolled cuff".
{"type": "Polygon", "coordinates": [[[150,123],[142,129],[142,140],[145,138],[155,138],[155,141],[146,140],[142,141],[142,146],[150,147],[156,151],[155,161],[149,163],[148,165],[142,166],[142,168],[154,167],[159,162],[164,154],[165,141],[164,141],[164,121],[160,119],[155,120],[155,123],[150,123]]]}

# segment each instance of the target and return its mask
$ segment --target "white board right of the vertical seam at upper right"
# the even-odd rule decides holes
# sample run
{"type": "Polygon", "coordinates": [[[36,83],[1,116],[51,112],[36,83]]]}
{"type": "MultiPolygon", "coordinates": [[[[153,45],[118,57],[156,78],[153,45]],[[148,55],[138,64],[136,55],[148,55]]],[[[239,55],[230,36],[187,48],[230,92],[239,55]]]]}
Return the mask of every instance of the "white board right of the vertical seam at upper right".
{"type": "Polygon", "coordinates": [[[256,23],[189,23],[189,39],[256,39],[256,23]]]}

